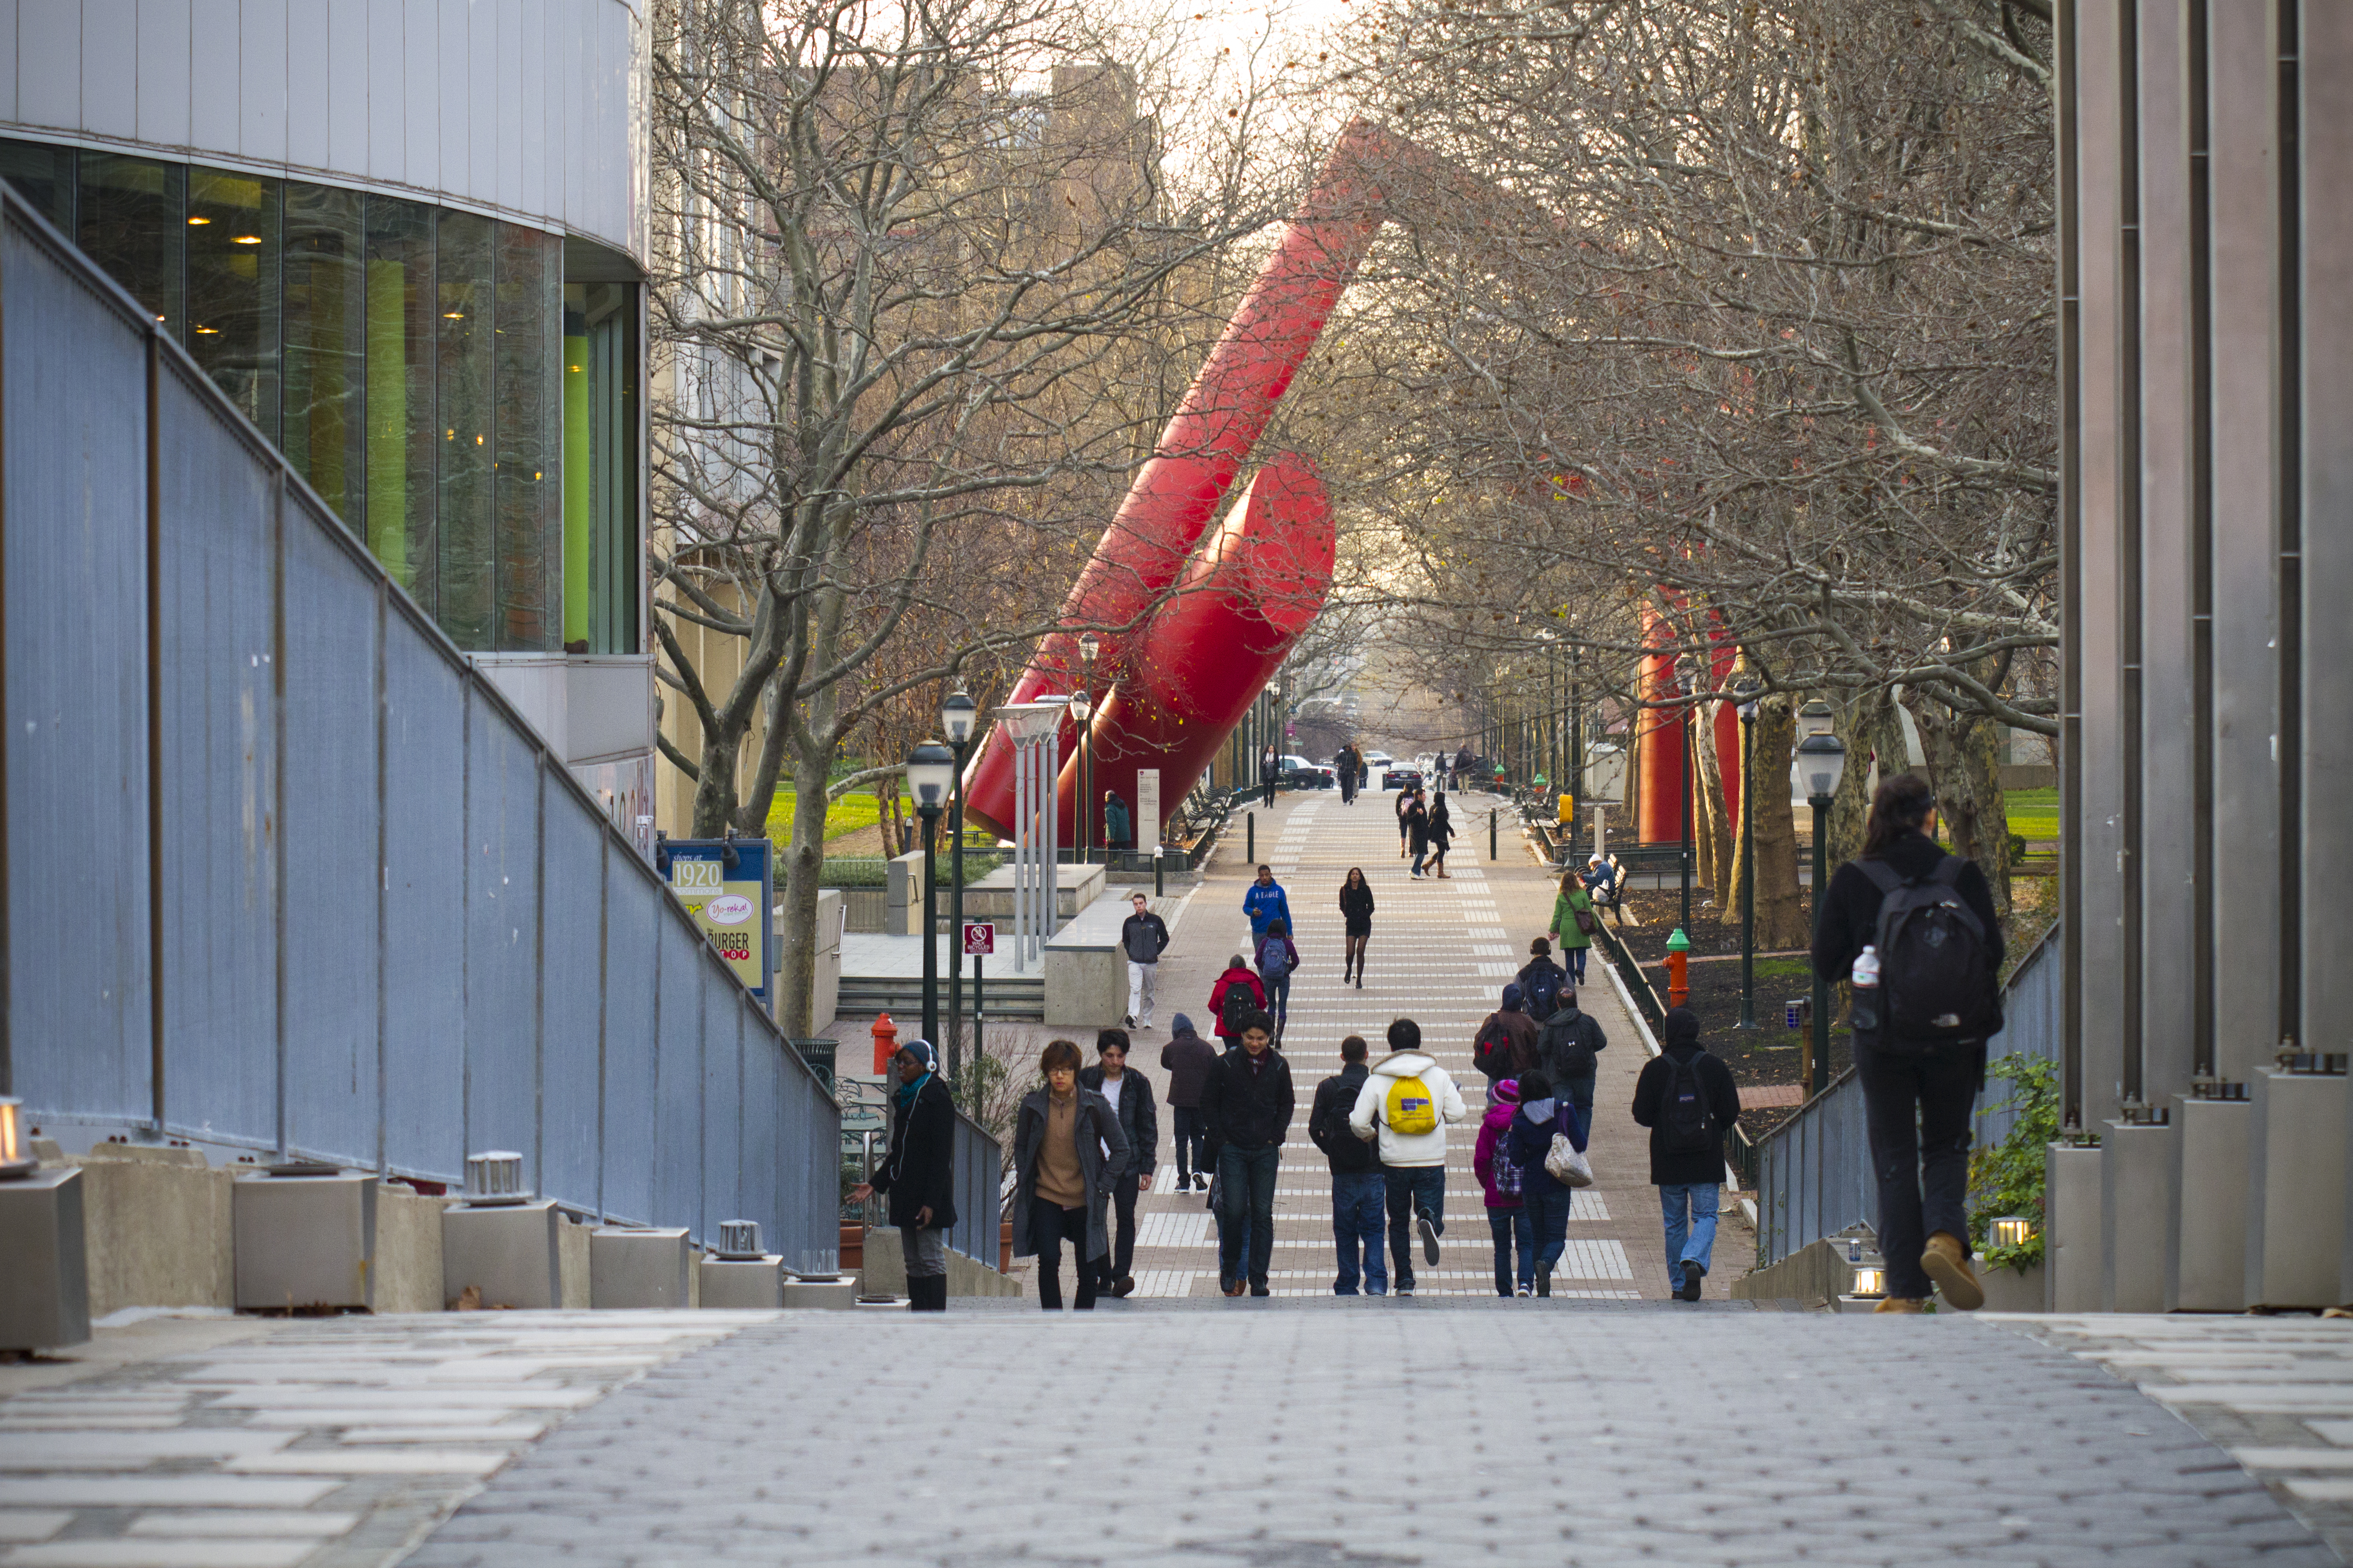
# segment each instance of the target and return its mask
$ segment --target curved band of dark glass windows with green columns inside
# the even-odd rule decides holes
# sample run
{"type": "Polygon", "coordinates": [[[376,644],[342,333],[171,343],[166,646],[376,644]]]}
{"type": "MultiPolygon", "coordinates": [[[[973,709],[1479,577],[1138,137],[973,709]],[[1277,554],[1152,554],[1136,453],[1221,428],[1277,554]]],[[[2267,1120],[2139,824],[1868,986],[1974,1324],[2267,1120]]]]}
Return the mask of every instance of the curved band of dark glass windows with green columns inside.
{"type": "Polygon", "coordinates": [[[640,285],[376,191],[42,141],[0,141],[0,177],[459,647],[640,652],[640,285]]]}

